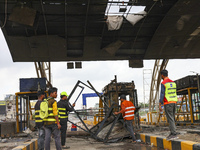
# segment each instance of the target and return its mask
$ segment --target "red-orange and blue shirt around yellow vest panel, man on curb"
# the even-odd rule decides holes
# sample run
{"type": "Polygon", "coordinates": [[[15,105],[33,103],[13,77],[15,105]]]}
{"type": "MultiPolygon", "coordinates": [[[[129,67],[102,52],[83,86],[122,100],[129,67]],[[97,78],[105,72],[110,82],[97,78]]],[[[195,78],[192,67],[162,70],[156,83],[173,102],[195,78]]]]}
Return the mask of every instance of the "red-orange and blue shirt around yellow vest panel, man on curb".
{"type": "Polygon", "coordinates": [[[165,97],[165,90],[166,90],[165,83],[167,83],[167,82],[174,82],[174,81],[172,81],[171,79],[166,77],[166,78],[164,78],[163,82],[161,83],[161,91],[160,91],[160,100],[159,100],[159,102],[161,104],[164,103],[164,105],[170,104],[170,103],[176,103],[176,101],[168,101],[167,98],[165,97]]]}

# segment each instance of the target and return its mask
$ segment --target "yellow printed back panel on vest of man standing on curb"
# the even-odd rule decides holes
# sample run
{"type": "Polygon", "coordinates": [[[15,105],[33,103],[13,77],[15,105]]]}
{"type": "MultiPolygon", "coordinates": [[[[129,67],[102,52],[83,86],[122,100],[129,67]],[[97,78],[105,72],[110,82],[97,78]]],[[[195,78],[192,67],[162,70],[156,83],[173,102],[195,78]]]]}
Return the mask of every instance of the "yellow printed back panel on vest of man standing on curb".
{"type": "Polygon", "coordinates": [[[177,102],[177,94],[176,94],[176,83],[175,82],[167,82],[165,85],[165,98],[168,102],[174,101],[177,102]]]}

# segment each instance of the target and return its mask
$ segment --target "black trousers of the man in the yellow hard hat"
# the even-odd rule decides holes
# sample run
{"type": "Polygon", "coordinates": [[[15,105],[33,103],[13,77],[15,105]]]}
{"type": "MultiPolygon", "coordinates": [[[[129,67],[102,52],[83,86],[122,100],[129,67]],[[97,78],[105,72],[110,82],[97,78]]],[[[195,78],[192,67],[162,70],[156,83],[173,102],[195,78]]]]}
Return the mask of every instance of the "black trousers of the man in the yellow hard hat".
{"type": "Polygon", "coordinates": [[[64,146],[66,142],[67,119],[60,119],[61,131],[61,145],[64,146]]]}

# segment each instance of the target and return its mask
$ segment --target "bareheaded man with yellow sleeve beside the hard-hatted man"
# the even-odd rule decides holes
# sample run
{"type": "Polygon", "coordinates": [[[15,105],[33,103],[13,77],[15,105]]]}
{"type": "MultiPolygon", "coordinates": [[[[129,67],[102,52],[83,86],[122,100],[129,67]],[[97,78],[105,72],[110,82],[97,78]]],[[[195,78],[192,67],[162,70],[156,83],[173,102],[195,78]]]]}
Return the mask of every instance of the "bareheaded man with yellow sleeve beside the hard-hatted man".
{"type": "Polygon", "coordinates": [[[48,101],[48,117],[44,119],[45,126],[45,150],[50,150],[51,134],[55,139],[56,150],[61,150],[60,143],[60,122],[58,118],[57,102],[57,88],[53,87],[48,90],[49,97],[48,101]]]}

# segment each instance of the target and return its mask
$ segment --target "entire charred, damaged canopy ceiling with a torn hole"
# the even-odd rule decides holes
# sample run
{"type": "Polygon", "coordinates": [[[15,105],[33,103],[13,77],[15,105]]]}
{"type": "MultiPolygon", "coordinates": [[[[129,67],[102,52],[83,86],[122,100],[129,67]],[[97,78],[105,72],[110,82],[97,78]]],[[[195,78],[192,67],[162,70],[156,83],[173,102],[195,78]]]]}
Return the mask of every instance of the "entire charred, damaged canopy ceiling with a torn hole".
{"type": "Polygon", "coordinates": [[[144,59],[200,58],[199,0],[125,1],[129,8],[145,6],[146,14],[127,10],[114,30],[105,14],[108,3],[122,4],[0,0],[0,22],[13,61],[130,60],[130,67],[142,67],[144,59]],[[140,19],[130,22],[131,15],[140,19]]]}

